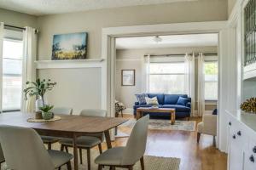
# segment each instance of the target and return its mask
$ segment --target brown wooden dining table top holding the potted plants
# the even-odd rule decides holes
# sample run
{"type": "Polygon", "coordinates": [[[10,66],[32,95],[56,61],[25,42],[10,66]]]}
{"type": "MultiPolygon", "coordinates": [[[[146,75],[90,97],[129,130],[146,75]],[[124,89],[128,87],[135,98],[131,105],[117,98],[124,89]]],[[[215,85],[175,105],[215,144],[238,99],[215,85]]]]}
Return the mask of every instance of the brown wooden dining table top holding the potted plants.
{"type": "Polygon", "coordinates": [[[8,112],[0,114],[0,125],[17,127],[31,127],[35,130],[48,130],[55,132],[72,133],[102,133],[113,127],[128,121],[118,117],[98,116],[61,116],[61,120],[55,122],[27,122],[34,114],[22,112],[8,112]]]}

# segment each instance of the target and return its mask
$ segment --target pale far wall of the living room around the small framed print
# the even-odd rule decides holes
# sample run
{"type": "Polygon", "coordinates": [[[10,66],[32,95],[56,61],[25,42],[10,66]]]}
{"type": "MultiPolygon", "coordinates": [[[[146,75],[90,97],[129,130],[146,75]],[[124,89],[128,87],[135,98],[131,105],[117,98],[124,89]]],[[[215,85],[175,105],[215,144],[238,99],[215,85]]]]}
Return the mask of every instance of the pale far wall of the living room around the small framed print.
{"type": "MultiPolygon", "coordinates": [[[[135,94],[142,93],[143,73],[142,61],[144,54],[185,54],[185,53],[218,53],[217,47],[186,47],[186,48],[145,48],[145,49],[119,49],[116,54],[116,99],[125,104],[127,108],[132,108],[134,102],[137,101],[135,94]],[[123,59],[123,60],[120,60],[123,59]],[[133,59],[133,60],[132,60],[133,59]],[[121,70],[135,69],[136,70],[136,86],[121,86],[121,70]]],[[[197,69],[196,69],[197,77],[197,69]]],[[[196,82],[197,84],[197,82],[196,82]]],[[[195,92],[197,94],[197,91],[195,92]]],[[[207,102],[206,110],[212,111],[215,109],[216,102],[207,102]]],[[[195,108],[196,109],[196,108],[195,108]]],[[[125,113],[131,110],[125,111],[125,113]]]]}

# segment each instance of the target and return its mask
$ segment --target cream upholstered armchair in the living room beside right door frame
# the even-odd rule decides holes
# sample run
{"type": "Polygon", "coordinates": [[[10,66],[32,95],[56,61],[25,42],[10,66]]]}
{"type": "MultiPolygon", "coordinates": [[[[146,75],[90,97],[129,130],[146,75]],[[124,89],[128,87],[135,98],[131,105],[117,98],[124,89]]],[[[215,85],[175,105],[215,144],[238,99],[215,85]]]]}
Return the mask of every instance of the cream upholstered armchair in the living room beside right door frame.
{"type": "Polygon", "coordinates": [[[201,133],[213,136],[213,145],[216,144],[215,136],[217,135],[217,115],[205,114],[202,122],[197,124],[197,143],[199,143],[201,133]]]}

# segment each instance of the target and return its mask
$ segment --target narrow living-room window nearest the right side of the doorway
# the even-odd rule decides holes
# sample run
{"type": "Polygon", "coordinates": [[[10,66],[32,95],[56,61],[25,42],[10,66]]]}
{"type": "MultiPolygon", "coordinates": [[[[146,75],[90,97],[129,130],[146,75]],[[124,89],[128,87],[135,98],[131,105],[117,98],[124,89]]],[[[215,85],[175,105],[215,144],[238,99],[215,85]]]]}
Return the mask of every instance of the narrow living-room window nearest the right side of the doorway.
{"type": "Polygon", "coordinates": [[[205,62],[205,99],[218,100],[218,62],[205,62]]]}

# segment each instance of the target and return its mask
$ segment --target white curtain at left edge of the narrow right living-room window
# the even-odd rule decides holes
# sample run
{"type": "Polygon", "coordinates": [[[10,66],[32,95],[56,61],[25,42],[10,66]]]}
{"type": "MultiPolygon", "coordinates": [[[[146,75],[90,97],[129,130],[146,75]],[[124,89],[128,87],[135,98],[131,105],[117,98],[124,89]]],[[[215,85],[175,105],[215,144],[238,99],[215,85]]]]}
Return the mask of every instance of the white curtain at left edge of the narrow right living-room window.
{"type": "Polygon", "coordinates": [[[198,56],[198,95],[197,95],[197,109],[198,116],[203,116],[205,112],[205,72],[204,72],[204,55],[202,53],[198,56]]]}

